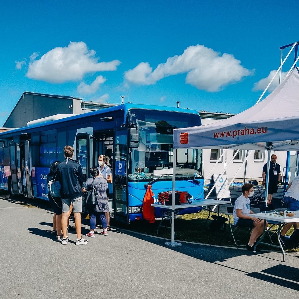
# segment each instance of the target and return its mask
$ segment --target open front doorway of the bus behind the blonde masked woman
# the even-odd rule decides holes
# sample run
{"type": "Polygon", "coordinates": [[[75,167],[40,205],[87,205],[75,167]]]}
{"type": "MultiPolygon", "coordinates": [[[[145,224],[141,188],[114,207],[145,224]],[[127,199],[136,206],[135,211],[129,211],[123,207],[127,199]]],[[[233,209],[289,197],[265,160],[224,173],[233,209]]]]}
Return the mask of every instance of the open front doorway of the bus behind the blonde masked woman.
{"type": "Polygon", "coordinates": [[[94,140],[94,150],[93,150],[92,166],[98,167],[98,157],[100,155],[105,155],[106,157],[109,158],[109,164],[110,164],[110,169],[112,174],[112,184],[108,183],[108,188],[109,188],[108,205],[109,205],[109,210],[112,211],[110,212],[110,217],[114,218],[113,131],[111,130],[105,132],[94,132],[93,140],[94,140]]]}

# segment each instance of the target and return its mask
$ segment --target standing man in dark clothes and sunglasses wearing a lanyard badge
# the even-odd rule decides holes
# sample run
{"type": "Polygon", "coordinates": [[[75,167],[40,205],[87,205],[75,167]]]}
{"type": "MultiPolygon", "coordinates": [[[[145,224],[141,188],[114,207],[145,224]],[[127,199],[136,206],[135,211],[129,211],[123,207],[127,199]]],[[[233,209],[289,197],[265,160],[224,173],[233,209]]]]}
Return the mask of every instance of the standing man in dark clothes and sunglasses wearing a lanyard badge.
{"type": "MultiPolygon", "coordinates": [[[[276,163],[276,155],[271,155],[270,169],[269,169],[269,185],[268,185],[268,199],[267,204],[271,204],[273,194],[277,193],[279,181],[280,181],[280,165],[276,163]]],[[[266,173],[267,173],[268,163],[263,167],[263,181],[262,184],[266,185],[266,173]]]]}

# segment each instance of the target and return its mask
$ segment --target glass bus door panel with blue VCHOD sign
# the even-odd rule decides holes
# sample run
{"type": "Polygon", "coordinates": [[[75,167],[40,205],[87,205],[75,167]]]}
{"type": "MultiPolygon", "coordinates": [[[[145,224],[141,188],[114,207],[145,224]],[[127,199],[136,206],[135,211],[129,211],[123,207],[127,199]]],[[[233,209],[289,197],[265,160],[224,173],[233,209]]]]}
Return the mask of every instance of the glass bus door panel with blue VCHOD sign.
{"type": "Polygon", "coordinates": [[[114,139],[114,218],[129,223],[128,207],[128,129],[115,132],[114,139]]]}

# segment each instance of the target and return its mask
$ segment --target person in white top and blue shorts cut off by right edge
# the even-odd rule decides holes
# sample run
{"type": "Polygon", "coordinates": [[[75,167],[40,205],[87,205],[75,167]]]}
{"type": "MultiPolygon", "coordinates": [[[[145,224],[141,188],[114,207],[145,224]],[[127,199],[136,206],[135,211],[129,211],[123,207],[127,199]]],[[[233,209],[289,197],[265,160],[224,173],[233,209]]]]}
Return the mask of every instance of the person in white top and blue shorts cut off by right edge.
{"type": "MultiPolygon", "coordinates": [[[[289,183],[286,188],[286,194],[283,197],[283,205],[288,208],[289,211],[299,211],[299,175],[294,177],[293,181],[289,183]]],[[[299,228],[298,222],[286,223],[282,228],[280,239],[284,242],[286,232],[293,225],[294,230],[299,228]]]]}

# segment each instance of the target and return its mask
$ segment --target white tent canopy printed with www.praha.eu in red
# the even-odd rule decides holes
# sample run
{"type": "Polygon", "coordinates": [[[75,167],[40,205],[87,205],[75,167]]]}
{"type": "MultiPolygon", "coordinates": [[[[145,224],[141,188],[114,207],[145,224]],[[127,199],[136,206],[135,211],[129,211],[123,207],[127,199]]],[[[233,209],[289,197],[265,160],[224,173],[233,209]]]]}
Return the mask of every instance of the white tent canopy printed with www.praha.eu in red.
{"type": "Polygon", "coordinates": [[[299,69],[263,101],[215,124],[173,131],[174,148],[299,148],[299,69]],[[267,142],[272,142],[269,147],[267,142]]]}

